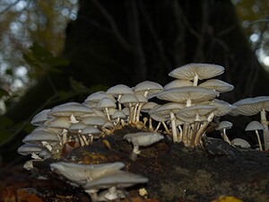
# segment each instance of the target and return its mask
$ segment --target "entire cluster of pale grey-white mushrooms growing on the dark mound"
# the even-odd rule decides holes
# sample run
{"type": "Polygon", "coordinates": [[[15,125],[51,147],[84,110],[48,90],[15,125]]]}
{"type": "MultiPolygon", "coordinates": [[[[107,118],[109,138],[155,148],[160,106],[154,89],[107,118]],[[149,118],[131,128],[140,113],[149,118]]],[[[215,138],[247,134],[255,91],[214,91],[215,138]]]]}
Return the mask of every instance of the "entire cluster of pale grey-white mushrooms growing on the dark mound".
{"type": "MultiPolygon", "coordinates": [[[[31,120],[31,124],[37,127],[24,137],[24,145],[19,147],[18,153],[31,154],[33,161],[59,159],[68,143],[91,146],[93,141],[113,135],[116,129],[126,126],[143,131],[123,136],[134,145],[131,154],[133,161],[140,154],[139,146],[152,145],[165,136],[174,143],[201,146],[201,138],[211,125],[221,131],[224,141],[237,145],[238,139],[230,141],[226,135],[226,129],[232,124],[225,120],[220,122],[219,118],[226,114],[251,116],[258,112],[261,113],[261,123],[255,121],[246,130],[256,130],[260,150],[263,150],[263,146],[257,130],[264,130],[267,150],[269,134],[265,111],[269,109],[269,97],[244,99],[233,105],[216,99],[220,93],[230,92],[234,88],[230,83],[213,78],[223,72],[222,66],[187,64],[170,72],[169,76],[174,80],[163,87],[150,81],[138,83],[133,88],[118,84],[107,92],[92,93],[83,103],[67,102],[42,110],[31,120]],[[151,101],[153,98],[164,104],[151,101]]],[[[51,171],[62,175],[74,186],[82,186],[92,201],[122,198],[124,192],[118,187],[148,180],[134,173],[120,171],[124,167],[122,162],[90,165],[55,162],[50,167],[51,171]],[[117,177],[128,180],[122,182],[117,177]],[[112,182],[109,184],[106,181],[112,182]],[[100,189],[106,190],[100,193],[100,189]]],[[[31,162],[26,162],[25,168],[32,168],[31,162]]]]}

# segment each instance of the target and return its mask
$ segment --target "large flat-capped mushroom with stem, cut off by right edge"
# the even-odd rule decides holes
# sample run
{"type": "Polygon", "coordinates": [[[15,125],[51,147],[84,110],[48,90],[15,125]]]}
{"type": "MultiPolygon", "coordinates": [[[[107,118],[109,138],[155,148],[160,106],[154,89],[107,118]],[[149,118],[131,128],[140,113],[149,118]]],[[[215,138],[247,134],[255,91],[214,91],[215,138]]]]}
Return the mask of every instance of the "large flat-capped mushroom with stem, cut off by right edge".
{"type": "Polygon", "coordinates": [[[261,123],[264,129],[265,151],[269,149],[269,130],[266,119],[266,111],[269,110],[269,96],[259,96],[256,98],[246,98],[233,103],[237,108],[230,112],[231,115],[252,116],[260,112],[261,123]]]}

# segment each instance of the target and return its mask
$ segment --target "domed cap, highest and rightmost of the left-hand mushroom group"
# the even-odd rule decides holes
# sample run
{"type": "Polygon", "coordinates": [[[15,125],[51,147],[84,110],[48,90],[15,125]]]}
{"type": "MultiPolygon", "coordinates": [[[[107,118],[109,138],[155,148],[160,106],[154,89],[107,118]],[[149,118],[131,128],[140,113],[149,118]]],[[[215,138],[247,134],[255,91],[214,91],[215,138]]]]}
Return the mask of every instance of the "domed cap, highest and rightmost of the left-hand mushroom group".
{"type": "Polygon", "coordinates": [[[147,97],[149,97],[152,94],[156,94],[159,92],[162,92],[163,88],[161,84],[151,81],[144,81],[142,83],[138,83],[134,87],[135,94],[144,94],[144,92],[148,92],[147,97]]]}

